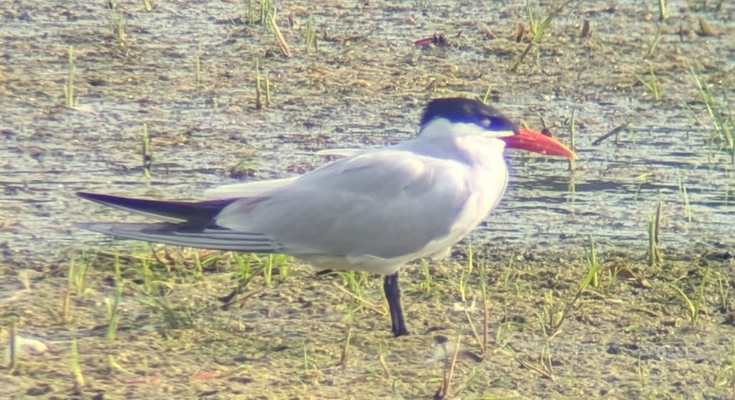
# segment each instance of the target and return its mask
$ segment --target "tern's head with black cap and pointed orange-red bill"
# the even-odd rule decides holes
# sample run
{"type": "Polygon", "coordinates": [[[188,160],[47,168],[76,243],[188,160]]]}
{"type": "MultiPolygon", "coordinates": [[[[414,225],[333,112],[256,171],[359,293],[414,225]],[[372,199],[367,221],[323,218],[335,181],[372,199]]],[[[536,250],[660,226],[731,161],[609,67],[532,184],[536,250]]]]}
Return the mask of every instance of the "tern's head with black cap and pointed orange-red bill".
{"type": "MultiPolygon", "coordinates": [[[[509,149],[576,158],[574,151],[553,137],[520,126],[495,108],[473,99],[453,97],[431,100],[421,117],[420,135],[432,131],[427,128],[434,124],[462,124],[465,128],[471,128],[465,129],[465,132],[479,132],[495,137],[502,140],[509,149]]],[[[443,130],[445,129],[437,129],[437,132],[443,130]]]]}

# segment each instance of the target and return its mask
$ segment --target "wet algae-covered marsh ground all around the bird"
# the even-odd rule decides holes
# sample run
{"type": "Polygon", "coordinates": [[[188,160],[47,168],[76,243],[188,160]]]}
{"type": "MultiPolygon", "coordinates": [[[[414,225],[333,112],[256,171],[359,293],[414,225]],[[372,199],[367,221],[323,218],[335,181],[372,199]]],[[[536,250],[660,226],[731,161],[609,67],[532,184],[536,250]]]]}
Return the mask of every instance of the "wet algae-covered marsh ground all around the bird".
{"type": "MultiPolygon", "coordinates": [[[[381,304],[372,277],[348,294],[334,287],[343,286],[339,279],[314,279],[308,268],[287,264],[273,270],[284,275],[273,273],[270,285],[254,277],[241,308],[220,311],[218,296],[256,261],[238,265],[234,256],[201,254],[196,262],[179,249],[98,243],[72,223],[90,213],[121,215],[87,208],[73,192],[196,196],[229,180],[226,171],[243,157],[251,160],[248,175],[255,174],[248,179],[300,173],[322,162],[316,150],[413,135],[426,99],[481,96],[490,87],[492,101],[509,115],[529,126],[540,115],[562,137],[574,111],[580,159],[570,173],[563,162],[511,155],[506,201],[473,236],[476,262],[488,265],[490,351],[481,362],[457,360],[451,393],[731,396],[734,173],[724,143],[712,139],[690,72],[699,65],[731,124],[735,7],[712,3],[684,2],[659,24],[646,4],[581,2],[553,20],[517,73],[507,69],[529,39],[514,41],[517,24],[528,26],[522,2],[273,2],[290,58],[279,55],[267,26],[239,23],[243,3],[160,1],[152,12],[143,2],[118,3],[124,41],[104,4],[1,3],[0,132],[7,145],[0,147],[0,324],[18,315],[21,334],[48,341],[50,350],[0,372],[0,393],[73,394],[76,339],[83,396],[433,396],[442,378],[441,362],[425,362],[434,335],[451,342],[461,335],[478,353],[467,315],[477,326],[482,320],[480,285],[476,271],[464,281],[461,248],[428,265],[430,282],[420,265],[405,268],[404,305],[423,329],[392,340],[381,333],[385,310],[371,306],[381,304]],[[317,46],[307,53],[298,43],[309,15],[317,46]],[[699,18],[714,36],[694,33],[699,18]],[[584,20],[594,27],[589,38],[579,38],[584,20]],[[413,45],[434,33],[451,46],[413,45]],[[64,105],[69,46],[72,108],[64,105]],[[273,104],[262,110],[255,110],[255,58],[271,83],[273,104]],[[650,71],[661,101],[651,101],[653,93],[634,76],[647,79],[650,71]],[[590,146],[623,122],[630,128],[617,143],[590,146]],[[149,183],[143,124],[153,156],[149,183]],[[647,221],[659,199],[663,260],[649,267],[647,221]],[[590,236],[598,243],[600,284],[553,334],[548,315],[587,274],[590,236]],[[93,254],[90,247],[100,255],[85,256],[84,276],[72,274],[88,290],[77,292],[74,283],[68,294],[70,257],[93,254]],[[115,253],[123,285],[110,341],[115,253]],[[673,286],[700,301],[695,326],[673,286]],[[553,379],[534,367],[550,368],[553,379]]],[[[543,6],[530,3],[539,21],[543,6]]]]}

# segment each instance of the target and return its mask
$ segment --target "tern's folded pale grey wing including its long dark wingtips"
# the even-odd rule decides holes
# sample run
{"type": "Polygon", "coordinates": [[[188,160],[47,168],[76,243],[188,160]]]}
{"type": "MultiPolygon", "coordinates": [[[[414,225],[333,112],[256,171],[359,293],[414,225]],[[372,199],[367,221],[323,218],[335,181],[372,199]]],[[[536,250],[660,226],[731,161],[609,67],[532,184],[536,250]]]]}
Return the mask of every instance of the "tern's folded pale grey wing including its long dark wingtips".
{"type": "Polygon", "coordinates": [[[79,193],[121,210],[177,221],[80,226],[117,237],[204,249],[422,257],[426,254],[418,251],[429,243],[442,243],[456,231],[457,216],[470,194],[467,174],[466,166],[453,160],[411,151],[367,152],[298,178],[256,182],[249,188],[238,185],[215,196],[224,199],[190,203],[79,193]],[[235,193],[248,196],[230,198],[235,193]]]}

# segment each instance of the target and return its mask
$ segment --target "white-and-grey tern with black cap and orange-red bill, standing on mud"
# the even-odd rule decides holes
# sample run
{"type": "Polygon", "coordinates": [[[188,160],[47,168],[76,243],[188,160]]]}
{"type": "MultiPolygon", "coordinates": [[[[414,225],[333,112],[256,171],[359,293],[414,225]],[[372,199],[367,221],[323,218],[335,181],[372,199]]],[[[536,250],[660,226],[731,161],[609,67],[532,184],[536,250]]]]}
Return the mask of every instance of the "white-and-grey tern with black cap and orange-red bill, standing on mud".
{"type": "Polygon", "coordinates": [[[384,276],[394,337],[409,335],[398,270],[440,259],[484,222],[508,185],[506,149],[576,154],[489,104],[432,99],[415,137],[342,156],[301,176],[205,191],[201,201],[78,192],[83,199],[157,222],[90,222],[82,229],[173,246],[290,254],[320,270],[384,276]]]}

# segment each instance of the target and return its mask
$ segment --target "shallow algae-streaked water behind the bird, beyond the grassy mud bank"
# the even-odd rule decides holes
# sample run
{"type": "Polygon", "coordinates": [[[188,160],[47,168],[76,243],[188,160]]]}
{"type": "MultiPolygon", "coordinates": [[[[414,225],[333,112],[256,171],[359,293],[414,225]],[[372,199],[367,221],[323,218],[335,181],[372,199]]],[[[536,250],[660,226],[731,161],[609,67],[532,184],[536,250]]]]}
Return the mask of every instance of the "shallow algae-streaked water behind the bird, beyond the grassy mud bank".
{"type": "MultiPolygon", "coordinates": [[[[506,64],[498,63],[493,52],[502,54],[507,51],[504,46],[510,46],[501,43],[503,39],[483,41],[477,32],[466,32],[465,38],[455,40],[456,47],[428,50],[409,41],[433,32],[440,26],[436,18],[448,12],[460,21],[459,31],[473,26],[470,21],[477,12],[484,15],[482,21],[502,21],[503,15],[519,12],[520,6],[473,9],[452,3],[424,4],[420,9],[428,18],[414,26],[406,25],[410,21],[406,18],[416,18],[415,7],[373,6],[381,17],[361,38],[365,32],[359,21],[371,6],[345,4],[315,14],[323,35],[334,35],[341,42],[322,40],[311,57],[262,60],[270,71],[276,104],[267,110],[251,108],[252,60],[259,54],[257,49],[270,49],[273,43],[269,35],[248,40],[259,33],[256,29],[225,24],[240,12],[237,4],[192,6],[187,18],[175,12],[173,4],[159,4],[150,13],[123,9],[131,38],[123,48],[105,31],[110,29],[105,25],[109,15],[101,14],[98,7],[46,5],[43,11],[48,13],[27,19],[7,17],[0,35],[11,51],[12,63],[4,71],[10,96],[3,101],[7,161],[0,171],[0,184],[1,205],[9,210],[5,216],[9,248],[45,253],[79,240],[96,240],[71,226],[73,221],[89,219],[92,215],[87,212],[103,212],[75,199],[76,190],[196,199],[198,190],[232,182],[223,171],[250,149],[255,151],[251,162],[258,171],[253,179],[301,173],[324,162],[312,151],[398,142],[414,135],[425,99],[461,92],[467,85],[472,90],[465,95],[479,94],[488,84],[500,98],[498,105],[513,118],[537,126],[537,115],[542,115],[562,138],[568,128],[561,124],[571,112],[576,112],[581,126],[574,173],[567,171],[565,161],[511,157],[512,183],[503,204],[481,230],[482,237],[518,246],[577,246],[591,235],[606,246],[645,246],[648,216],[661,199],[665,246],[728,239],[728,227],[735,218],[730,200],[733,168],[725,151],[709,143],[707,129],[694,126],[685,115],[684,101],[705,118],[703,104],[692,96],[695,82],[686,65],[681,61],[674,68],[657,65],[666,90],[664,102],[645,99],[645,89],[625,71],[636,70],[638,62],[625,61],[623,52],[648,43],[655,24],[627,21],[631,24],[625,32],[628,37],[621,37],[622,32],[611,29],[611,24],[640,10],[632,5],[600,8],[603,4],[587,2],[581,15],[565,14],[557,20],[563,31],[570,31],[581,16],[595,18],[598,29],[593,39],[571,50],[561,50],[568,44],[561,41],[556,48],[545,48],[541,57],[549,57],[546,53],[551,51],[556,58],[551,63],[544,58],[536,74],[520,75],[498,69],[506,64]],[[57,23],[60,16],[65,23],[57,23]],[[60,105],[68,44],[76,46],[79,106],[75,109],[60,105]],[[373,54],[376,49],[395,53],[397,60],[373,54]],[[601,60],[594,54],[585,57],[584,49],[598,51],[601,60]],[[612,63],[599,63],[611,53],[612,63]],[[194,54],[202,59],[201,89],[191,82],[194,54]],[[565,64],[569,65],[566,71],[565,64]],[[445,89],[422,89],[423,83],[441,87],[437,79],[447,80],[445,89]],[[347,85],[340,85],[343,82],[347,85]],[[356,82],[364,88],[354,87],[356,82]],[[404,88],[396,86],[400,84],[404,88]],[[631,127],[620,134],[619,143],[610,138],[590,146],[623,122],[631,127]],[[154,177],[149,188],[140,172],[143,123],[153,138],[154,177]],[[680,182],[689,197],[691,222],[680,182]]],[[[298,5],[293,7],[299,10],[298,5]]],[[[725,5],[712,22],[726,20],[732,12],[725,5]]],[[[684,24],[692,17],[682,18],[684,24]]],[[[669,32],[673,26],[664,26],[667,33],[661,38],[659,58],[700,60],[705,65],[709,60],[729,60],[711,76],[719,83],[714,93],[732,93],[732,80],[725,72],[732,71],[735,58],[730,57],[734,53],[728,40],[731,29],[717,26],[725,31],[718,37],[689,36],[679,43],[678,36],[669,32]]],[[[293,47],[302,51],[296,43],[293,47]]],[[[638,58],[642,57],[634,60],[638,58]]],[[[526,63],[532,64],[533,59],[526,63]]]]}

